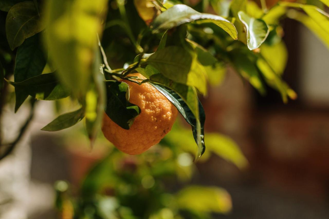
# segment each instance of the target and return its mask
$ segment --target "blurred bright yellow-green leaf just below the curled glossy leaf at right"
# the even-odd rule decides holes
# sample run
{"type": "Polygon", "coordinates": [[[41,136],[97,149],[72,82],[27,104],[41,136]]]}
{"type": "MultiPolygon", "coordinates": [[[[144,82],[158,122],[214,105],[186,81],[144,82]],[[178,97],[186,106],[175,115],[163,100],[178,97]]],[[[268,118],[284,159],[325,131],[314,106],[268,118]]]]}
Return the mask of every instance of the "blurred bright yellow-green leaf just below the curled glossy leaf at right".
{"type": "Polygon", "coordinates": [[[273,45],[263,43],[260,49],[262,57],[271,66],[274,72],[278,75],[282,75],[288,61],[288,51],[285,43],[283,41],[273,45]],[[280,55],[273,56],[273,54],[280,55]]]}

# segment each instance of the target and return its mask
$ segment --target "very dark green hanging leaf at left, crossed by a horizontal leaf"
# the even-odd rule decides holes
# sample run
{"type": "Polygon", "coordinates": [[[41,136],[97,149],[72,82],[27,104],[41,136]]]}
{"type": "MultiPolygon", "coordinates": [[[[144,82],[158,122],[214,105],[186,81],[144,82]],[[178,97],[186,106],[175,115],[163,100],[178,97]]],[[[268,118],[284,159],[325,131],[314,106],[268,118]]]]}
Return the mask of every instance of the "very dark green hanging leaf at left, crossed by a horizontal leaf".
{"type": "MultiPolygon", "coordinates": [[[[47,58],[43,53],[40,34],[27,38],[17,49],[14,69],[14,81],[22,82],[40,75],[46,65],[47,58]]],[[[21,87],[15,87],[15,112],[29,96],[21,87]]]]}

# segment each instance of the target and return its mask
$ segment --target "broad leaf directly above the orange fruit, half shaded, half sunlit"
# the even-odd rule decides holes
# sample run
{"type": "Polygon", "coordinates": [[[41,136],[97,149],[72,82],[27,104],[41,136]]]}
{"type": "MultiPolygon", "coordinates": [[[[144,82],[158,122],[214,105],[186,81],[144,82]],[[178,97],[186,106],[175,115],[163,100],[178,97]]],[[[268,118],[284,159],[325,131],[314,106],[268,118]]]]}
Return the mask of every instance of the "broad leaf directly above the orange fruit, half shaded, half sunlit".
{"type": "Polygon", "coordinates": [[[206,72],[200,68],[196,56],[192,57],[184,48],[166,47],[152,54],[146,63],[174,82],[194,86],[203,94],[207,92],[206,72]]]}

